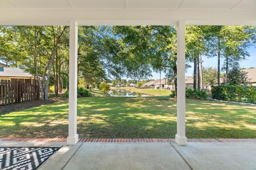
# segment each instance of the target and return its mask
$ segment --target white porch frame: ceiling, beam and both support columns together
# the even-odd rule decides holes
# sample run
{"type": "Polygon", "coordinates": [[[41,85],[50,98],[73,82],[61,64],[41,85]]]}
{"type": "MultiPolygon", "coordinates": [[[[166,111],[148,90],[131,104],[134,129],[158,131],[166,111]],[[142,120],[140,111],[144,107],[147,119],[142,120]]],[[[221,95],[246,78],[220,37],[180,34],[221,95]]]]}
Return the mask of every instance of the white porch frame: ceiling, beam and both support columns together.
{"type": "Polygon", "coordinates": [[[69,129],[78,142],[78,25],[177,25],[177,134],[187,145],[185,122],[185,25],[256,25],[255,0],[1,0],[0,25],[69,25],[69,129]]]}

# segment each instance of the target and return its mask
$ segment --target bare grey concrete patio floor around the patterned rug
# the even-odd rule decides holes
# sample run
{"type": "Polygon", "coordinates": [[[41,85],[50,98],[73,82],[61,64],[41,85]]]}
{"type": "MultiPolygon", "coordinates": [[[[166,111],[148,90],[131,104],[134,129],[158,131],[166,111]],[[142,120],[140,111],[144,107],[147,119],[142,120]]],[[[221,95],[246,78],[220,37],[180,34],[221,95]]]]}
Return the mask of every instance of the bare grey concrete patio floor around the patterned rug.
{"type": "Polygon", "coordinates": [[[61,146],[39,170],[256,170],[256,142],[0,142],[0,147],[61,146]]]}

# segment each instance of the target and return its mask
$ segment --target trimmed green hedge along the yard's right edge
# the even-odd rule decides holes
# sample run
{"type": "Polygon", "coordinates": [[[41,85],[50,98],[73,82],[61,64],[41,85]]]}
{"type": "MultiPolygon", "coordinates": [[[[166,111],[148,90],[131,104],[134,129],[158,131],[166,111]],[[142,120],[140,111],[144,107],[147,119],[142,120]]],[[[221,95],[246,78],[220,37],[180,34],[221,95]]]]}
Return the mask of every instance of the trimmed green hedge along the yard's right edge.
{"type": "Polygon", "coordinates": [[[255,86],[212,86],[212,98],[233,102],[246,102],[256,104],[255,86]]]}

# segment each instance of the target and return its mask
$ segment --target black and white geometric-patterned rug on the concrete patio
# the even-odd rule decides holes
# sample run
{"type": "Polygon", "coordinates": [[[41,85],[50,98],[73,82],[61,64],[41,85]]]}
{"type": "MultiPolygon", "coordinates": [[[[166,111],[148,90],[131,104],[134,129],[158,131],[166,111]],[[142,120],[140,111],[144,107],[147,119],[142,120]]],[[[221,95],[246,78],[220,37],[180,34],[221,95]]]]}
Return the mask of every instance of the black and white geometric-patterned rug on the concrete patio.
{"type": "Polygon", "coordinates": [[[36,170],[59,147],[0,147],[1,170],[36,170]]]}

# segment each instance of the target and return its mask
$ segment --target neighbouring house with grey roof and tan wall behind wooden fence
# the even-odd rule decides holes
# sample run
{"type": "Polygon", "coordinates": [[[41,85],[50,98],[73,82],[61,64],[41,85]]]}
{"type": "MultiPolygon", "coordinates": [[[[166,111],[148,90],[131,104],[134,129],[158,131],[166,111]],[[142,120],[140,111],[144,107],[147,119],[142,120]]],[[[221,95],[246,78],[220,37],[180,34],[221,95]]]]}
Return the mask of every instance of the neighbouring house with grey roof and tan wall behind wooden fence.
{"type": "Polygon", "coordinates": [[[0,79],[1,80],[19,80],[26,83],[32,83],[34,76],[20,68],[12,68],[2,66],[0,67],[0,79]]]}

